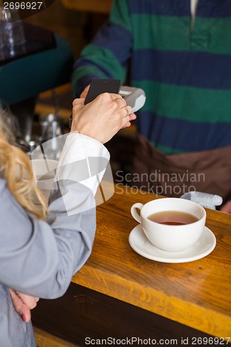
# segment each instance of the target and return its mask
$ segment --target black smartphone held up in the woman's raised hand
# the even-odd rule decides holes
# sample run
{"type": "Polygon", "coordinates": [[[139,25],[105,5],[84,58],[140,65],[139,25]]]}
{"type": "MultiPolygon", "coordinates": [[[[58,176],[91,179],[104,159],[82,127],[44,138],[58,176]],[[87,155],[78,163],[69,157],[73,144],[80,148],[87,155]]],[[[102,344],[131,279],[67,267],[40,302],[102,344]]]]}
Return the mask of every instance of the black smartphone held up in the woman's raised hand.
{"type": "Polygon", "coordinates": [[[119,80],[110,80],[103,78],[92,80],[85,99],[85,105],[96,99],[96,96],[98,96],[99,94],[105,92],[119,94],[120,86],[121,81],[119,80]]]}

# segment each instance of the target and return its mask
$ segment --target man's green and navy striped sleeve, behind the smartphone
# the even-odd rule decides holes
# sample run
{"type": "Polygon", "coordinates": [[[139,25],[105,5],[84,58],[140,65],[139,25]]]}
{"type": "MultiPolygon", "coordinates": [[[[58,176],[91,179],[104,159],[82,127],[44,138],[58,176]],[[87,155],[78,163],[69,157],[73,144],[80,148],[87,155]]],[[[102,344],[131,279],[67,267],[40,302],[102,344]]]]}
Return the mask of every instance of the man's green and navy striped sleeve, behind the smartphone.
{"type": "Polygon", "coordinates": [[[83,49],[74,65],[74,95],[79,96],[94,78],[117,78],[123,83],[126,79],[131,45],[130,15],[126,1],[115,1],[109,21],[83,49]]]}

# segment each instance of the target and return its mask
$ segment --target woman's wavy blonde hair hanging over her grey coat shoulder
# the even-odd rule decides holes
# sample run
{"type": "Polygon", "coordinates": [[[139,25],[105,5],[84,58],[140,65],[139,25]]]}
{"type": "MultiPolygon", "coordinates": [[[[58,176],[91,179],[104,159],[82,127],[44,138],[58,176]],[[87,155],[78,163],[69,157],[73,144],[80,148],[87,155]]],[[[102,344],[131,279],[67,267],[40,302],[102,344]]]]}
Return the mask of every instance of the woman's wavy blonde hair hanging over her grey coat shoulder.
{"type": "Polygon", "coordinates": [[[6,179],[11,194],[26,212],[37,219],[46,219],[45,198],[36,186],[31,160],[15,144],[8,126],[9,117],[8,112],[0,109],[0,176],[6,179]]]}

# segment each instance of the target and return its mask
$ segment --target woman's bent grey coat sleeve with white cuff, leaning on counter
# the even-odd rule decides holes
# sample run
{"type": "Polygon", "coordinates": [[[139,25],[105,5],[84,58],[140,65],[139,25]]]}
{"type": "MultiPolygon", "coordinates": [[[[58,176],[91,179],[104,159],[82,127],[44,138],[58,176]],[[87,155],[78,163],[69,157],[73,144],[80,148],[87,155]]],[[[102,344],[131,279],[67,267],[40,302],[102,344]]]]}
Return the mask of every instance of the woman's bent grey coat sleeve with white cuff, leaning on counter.
{"type": "Polygon", "coordinates": [[[94,241],[94,192],[103,171],[99,165],[101,175],[88,179],[85,175],[79,178],[76,172],[83,170],[79,163],[88,162],[92,155],[100,164],[102,159],[109,160],[108,151],[96,140],[80,134],[67,137],[49,198],[50,221],[26,213],[0,175],[1,284],[40,298],[65,293],[71,277],[89,257],[94,241]]]}

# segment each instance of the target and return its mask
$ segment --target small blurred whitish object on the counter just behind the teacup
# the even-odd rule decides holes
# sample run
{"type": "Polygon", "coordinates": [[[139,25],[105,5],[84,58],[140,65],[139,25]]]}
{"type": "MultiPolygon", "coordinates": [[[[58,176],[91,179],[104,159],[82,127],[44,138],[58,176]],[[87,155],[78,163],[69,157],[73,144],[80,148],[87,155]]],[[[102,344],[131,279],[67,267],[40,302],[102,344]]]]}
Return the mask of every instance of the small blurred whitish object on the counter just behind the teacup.
{"type": "Polygon", "coordinates": [[[220,206],[223,202],[221,196],[203,192],[188,192],[180,196],[180,198],[194,201],[194,203],[200,204],[203,208],[211,208],[212,210],[216,210],[216,206],[220,206]]]}

